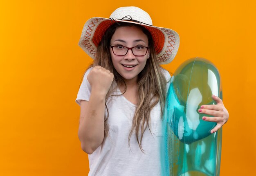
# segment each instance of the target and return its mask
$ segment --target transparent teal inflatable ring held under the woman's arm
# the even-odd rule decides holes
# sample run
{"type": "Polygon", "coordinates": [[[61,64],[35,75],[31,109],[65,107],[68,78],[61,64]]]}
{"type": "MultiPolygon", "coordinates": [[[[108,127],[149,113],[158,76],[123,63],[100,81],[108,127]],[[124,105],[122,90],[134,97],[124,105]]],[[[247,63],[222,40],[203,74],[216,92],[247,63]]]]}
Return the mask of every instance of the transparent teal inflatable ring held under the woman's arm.
{"type": "Polygon", "coordinates": [[[184,62],[171,78],[163,117],[161,165],[163,176],[218,176],[222,128],[202,120],[200,106],[222,99],[218,69],[207,59],[184,62]]]}

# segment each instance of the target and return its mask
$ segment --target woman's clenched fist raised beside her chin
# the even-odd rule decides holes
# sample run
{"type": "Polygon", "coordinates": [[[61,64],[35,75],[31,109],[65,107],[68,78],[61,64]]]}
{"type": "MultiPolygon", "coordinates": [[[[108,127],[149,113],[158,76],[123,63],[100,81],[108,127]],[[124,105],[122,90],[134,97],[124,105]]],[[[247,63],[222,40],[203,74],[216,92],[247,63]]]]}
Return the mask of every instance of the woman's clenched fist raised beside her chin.
{"type": "Polygon", "coordinates": [[[92,91],[96,91],[101,95],[107,95],[112,84],[114,75],[101,66],[94,66],[87,76],[87,79],[92,87],[92,91]]]}

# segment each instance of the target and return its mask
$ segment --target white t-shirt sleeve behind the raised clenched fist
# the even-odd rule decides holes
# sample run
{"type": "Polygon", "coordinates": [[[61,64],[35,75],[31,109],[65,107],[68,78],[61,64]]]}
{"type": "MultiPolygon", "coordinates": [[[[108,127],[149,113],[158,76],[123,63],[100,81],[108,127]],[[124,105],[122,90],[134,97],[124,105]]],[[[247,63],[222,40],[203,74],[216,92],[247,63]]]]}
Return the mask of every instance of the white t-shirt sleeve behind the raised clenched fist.
{"type": "Polygon", "coordinates": [[[89,101],[90,99],[90,95],[91,95],[91,85],[87,79],[87,75],[90,73],[90,71],[92,70],[92,67],[89,68],[86,72],[85,75],[83,77],[83,81],[82,84],[79,88],[79,91],[77,93],[77,97],[76,97],[76,103],[80,106],[80,102],[81,100],[85,100],[85,101],[89,101]]]}

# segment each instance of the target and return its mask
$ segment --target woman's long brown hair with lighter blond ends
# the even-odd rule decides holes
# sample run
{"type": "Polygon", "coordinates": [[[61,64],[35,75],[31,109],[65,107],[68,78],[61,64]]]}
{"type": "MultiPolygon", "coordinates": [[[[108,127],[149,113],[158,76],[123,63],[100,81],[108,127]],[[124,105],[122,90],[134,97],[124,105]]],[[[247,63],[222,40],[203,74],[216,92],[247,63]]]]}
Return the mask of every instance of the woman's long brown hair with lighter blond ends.
{"type": "MultiPolygon", "coordinates": [[[[119,22],[118,24],[114,23],[103,35],[102,40],[97,47],[96,58],[94,59],[93,64],[89,66],[89,68],[99,65],[103,68],[110,70],[110,72],[114,74],[114,81],[106,95],[105,102],[107,102],[108,98],[112,96],[112,92],[117,88],[117,86],[124,85],[124,92],[126,91],[125,81],[123,77],[117,72],[117,70],[115,70],[110,55],[110,40],[112,38],[112,35],[115,33],[115,30],[120,26],[137,26],[138,28],[140,28],[147,35],[148,44],[150,47],[150,57],[149,59],[147,59],[144,69],[138,75],[137,106],[132,120],[132,128],[130,130],[128,138],[128,142],[130,145],[130,138],[135,131],[137,142],[141,151],[143,152],[144,150],[142,148],[141,142],[146,128],[149,128],[150,130],[150,111],[160,101],[160,105],[162,107],[162,117],[166,99],[166,79],[161,72],[161,66],[157,62],[154,42],[150,32],[141,25],[126,22],[119,22]]],[[[105,117],[104,131],[105,136],[108,136],[108,107],[106,103],[105,106],[107,110],[107,115],[105,117]]]]}

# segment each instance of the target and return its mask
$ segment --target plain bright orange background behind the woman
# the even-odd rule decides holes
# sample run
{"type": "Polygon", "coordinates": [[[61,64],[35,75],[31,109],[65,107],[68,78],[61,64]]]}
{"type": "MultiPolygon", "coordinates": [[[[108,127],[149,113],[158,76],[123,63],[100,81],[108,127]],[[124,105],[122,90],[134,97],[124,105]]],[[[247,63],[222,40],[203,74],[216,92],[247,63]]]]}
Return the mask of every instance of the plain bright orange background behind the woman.
{"type": "Polygon", "coordinates": [[[0,175],[84,176],[88,157],[77,136],[75,103],[92,61],[78,46],[84,23],[117,7],[147,11],[174,29],[186,59],[211,60],[222,77],[230,119],[223,127],[221,176],[254,174],[256,163],[255,3],[243,0],[0,2],[0,175]]]}

